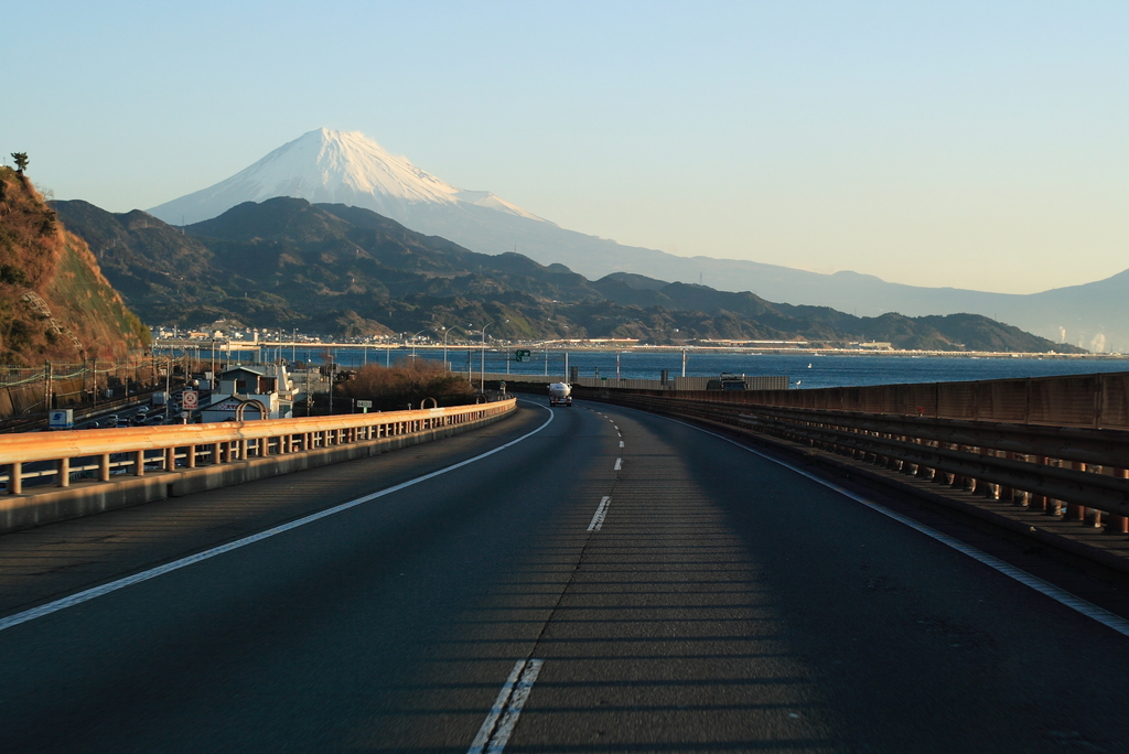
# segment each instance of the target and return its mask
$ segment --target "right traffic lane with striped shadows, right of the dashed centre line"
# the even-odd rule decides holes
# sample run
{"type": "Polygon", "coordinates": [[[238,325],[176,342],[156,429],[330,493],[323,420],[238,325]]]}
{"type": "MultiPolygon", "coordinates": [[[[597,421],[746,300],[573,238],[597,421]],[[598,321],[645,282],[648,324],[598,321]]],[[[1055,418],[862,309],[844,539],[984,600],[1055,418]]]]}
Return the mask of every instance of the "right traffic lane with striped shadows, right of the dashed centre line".
{"type": "Polygon", "coordinates": [[[1123,751],[1124,637],[665,419],[535,650],[513,746],[1123,751]]]}

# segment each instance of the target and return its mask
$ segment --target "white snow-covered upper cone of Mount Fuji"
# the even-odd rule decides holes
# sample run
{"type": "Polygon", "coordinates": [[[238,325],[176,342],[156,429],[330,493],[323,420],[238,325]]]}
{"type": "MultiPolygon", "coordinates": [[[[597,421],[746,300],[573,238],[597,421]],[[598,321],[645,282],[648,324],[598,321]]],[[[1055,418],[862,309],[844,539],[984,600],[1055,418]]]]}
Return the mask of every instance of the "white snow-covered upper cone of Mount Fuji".
{"type": "Polygon", "coordinates": [[[318,129],[279,147],[215,186],[155,207],[170,223],[213,218],[246,201],[295,196],[312,203],[364,207],[404,225],[419,204],[461,204],[541,220],[488,191],[464,191],[388,154],[359,131],[318,129]]]}

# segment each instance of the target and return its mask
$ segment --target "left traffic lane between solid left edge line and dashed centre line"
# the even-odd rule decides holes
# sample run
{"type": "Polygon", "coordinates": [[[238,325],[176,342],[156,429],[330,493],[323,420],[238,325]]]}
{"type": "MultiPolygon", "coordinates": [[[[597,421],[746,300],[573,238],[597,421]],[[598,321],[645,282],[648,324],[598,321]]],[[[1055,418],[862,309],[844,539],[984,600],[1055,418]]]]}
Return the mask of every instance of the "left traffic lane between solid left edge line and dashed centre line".
{"type": "Polygon", "coordinates": [[[0,632],[6,751],[465,751],[612,476],[594,420],[543,435],[0,632]]]}

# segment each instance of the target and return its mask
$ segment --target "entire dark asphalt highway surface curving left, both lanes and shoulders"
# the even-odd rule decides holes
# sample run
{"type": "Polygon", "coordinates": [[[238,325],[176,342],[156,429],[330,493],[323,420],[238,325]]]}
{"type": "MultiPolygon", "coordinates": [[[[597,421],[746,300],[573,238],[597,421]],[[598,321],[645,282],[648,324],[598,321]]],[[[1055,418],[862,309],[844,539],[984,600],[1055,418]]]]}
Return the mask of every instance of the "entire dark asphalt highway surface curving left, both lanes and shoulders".
{"type": "Polygon", "coordinates": [[[1129,747],[1122,617],[896,500],[664,418],[543,404],[0,537],[0,749],[1129,747]]]}

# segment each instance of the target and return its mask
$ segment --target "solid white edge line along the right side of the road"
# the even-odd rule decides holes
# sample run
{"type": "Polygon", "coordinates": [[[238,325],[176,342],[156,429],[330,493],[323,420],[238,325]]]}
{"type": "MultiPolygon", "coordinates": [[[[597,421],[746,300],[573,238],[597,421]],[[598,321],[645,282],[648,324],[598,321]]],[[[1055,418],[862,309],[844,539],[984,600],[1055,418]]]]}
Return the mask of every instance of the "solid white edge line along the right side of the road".
{"type": "MultiPolygon", "coordinates": [[[[646,412],[644,412],[644,413],[646,413],[646,412]]],[[[656,414],[651,414],[651,415],[656,415],[656,414]]],[[[682,424],[683,427],[689,427],[691,429],[695,429],[699,432],[703,432],[706,435],[711,435],[711,436],[714,436],[714,437],[716,437],[716,438],[718,438],[720,440],[725,440],[726,442],[729,442],[730,445],[737,446],[742,450],[747,450],[749,453],[752,453],[755,456],[760,456],[761,458],[764,458],[765,461],[770,461],[770,462],[772,462],[774,464],[784,466],[785,468],[788,468],[789,471],[794,471],[797,474],[799,474],[800,476],[806,476],[807,479],[812,480],[813,482],[815,482],[817,484],[822,484],[823,486],[828,488],[829,490],[833,490],[833,491],[838,492],[839,494],[842,494],[842,496],[844,496],[847,498],[850,498],[855,502],[860,502],[864,506],[866,506],[867,508],[870,508],[872,510],[874,510],[876,512],[879,512],[883,516],[887,516],[889,518],[892,518],[892,519],[894,519],[895,521],[898,521],[900,524],[904,524],[905,526],[909,526],[910,528],[916,529],[916,531],[920,532],[921,534],[925,534],[927,537],[936,540],[937,542],[939,542],[939,543],[942,543],[944,545],[947,545],[947,546],[952,547],[953,550],[955,550],[955,551],[957,551],[960,553],[963,553],[963,554],[968,555],[969,558],[971,558],[971,559],[973,559],[973,560],[975,560],[975,561],[978,561],[978,562],[987,566],[988,568],[991,568],[991,569],[994,569],[994,570],[1003,573],[1004,576],[1006,576],[1008,578],[1015,579],[1016,581],[1018,581],[1023,586],[1029,587],[1031,589],[1034,589],[1035,591],[1038,591],[1041,595],[1050,597],[1051,599],[1053,599],[1054,602],[1059,603],[1060,605],[1065,605],[1065,606],[1069,607],[1070,610],[1076,611],[1078,613],[1082,613],[1086,617],[1092,619],[1094,621],[1097,621],[1102,625],[1104,625],[1104,626],[1106,626],[1109,629],[1112,629],[1112,630],[1117,631],[1118,633],[1120,633],[1120,634],[1122,634],[1124,637],[1129,637],[1129,621],[1127,621],[1126,619],[1121,617],[1120,615],[1115,615],[1115,614],[1111,613],[1110,611],[1105,610],[1104,607],[1099,607],[1097,605],[1095,605],[1095,604],[1093,604],[1091,602],[1087,602],[1087,600],[1085,600],[1085,599],[1083,599],[1080,597],[1077,597],[1077,596],[1070,594],[1069,591],[1067,591],[1066,589],[1062,589],[1061,587],[1057,587],[1057,586],[1054,586],[1053,584],[1051,584],[1049,581],[1044,581],[1041,578],[1039,578],[1038,576],[1032,576],[1031,573],[1027,573],[1023,569],[1016,568],[1015,566],[1012,566],[1010,563],[1007,563],[1007,562],[1000,560],[999,558],[996,558],[995,555],[989,555],[987,552],[978,550],[978,549],[975,549],[975,547],[973,547],[971,545],[964,544],[960,540],[956,540],[954,537],[948,536],[947,534],[938,532],[937,529],[933,528],[931,526],[926,526],[925,524],[916,521],[912,518],[909,518],[908,516],[902,516],[901,514],[899,514],[896,511],[893,511],[893,510],[891,510],[891,509],[889,509],[889,508],[886,508],[886,507],[884,507],[884,506],[882,506],[882,505],[879,505],[877,502],[873,502],[870,500],[867,500],[866,498],[864,498],[860,494],[857,494],[855,492],[851,492],[850,490],[843,489],[843,488],[839,486],[838,484],[835,484],[834,482],[829,482],[825,479],[820,479],[819,476],[816,476],[815,474],[812,474],[811,472],[806,472],[803,468],[798,468],[796,466],[793,466],[791,464],[789,464],[789,463],[787,463],[785,461],[780,461],[779,458],[773,458],[772,456],[765,455],[765,454],[761,453],[760,450],[754,450],[753,448],[750,448],[750,447],[747,447],[745,445],[742,445],[741,442],[737,442],[736,440],[733,440],[733,439],[730,439],[728,437],[725,437],[724,435],[718,435],[717,432],[711,432],[711,431],[709,431],[707,429],[702,429],[701,427],[694,427],[693,424],[686,423],[684,421],[679,421],[677,419],[671,419],[669,417],[660,417],[660,418],[662,419],[666,419],[667,421],[673,421],[675,424],[682,424]]]]}

